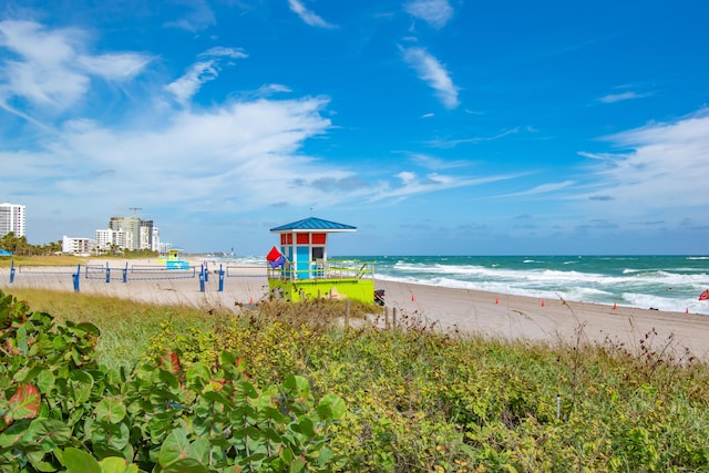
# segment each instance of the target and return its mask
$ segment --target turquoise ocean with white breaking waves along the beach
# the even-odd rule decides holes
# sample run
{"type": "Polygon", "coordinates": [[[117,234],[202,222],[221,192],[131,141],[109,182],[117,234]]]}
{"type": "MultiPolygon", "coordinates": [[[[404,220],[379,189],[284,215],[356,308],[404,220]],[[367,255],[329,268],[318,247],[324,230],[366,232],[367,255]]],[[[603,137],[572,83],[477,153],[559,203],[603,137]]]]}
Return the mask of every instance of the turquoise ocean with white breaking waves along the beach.
{"type": "MultiPolygon", "coordinates": [[[[340,258],[329,255],[328,258],[340,258]]],[[[709,256],[347,256],[376,278],[709,315],[709,256]]],[[[234,260],[234,259],[232,259],[234,260]]],[[[235,258],[263,264],[264,257],[235,258]]]]}

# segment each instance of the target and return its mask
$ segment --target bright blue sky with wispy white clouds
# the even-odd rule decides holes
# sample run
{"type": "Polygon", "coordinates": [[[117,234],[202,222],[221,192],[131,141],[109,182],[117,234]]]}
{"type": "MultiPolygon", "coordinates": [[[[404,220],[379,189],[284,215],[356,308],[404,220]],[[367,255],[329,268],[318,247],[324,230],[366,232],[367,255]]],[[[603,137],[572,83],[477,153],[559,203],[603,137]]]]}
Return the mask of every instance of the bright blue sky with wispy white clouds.
{"type": "Polygon", "coordinates": [[[0,200],[265,254],[707,254],[705,1],[13,1],[0,200]]]}

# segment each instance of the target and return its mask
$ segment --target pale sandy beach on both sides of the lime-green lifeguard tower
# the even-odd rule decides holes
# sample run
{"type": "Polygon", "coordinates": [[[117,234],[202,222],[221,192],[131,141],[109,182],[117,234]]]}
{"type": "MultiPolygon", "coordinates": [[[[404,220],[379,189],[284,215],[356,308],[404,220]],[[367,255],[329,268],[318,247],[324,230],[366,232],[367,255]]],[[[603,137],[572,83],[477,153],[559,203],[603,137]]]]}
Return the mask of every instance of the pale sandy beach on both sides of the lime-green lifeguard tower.
{"type": "MultiPolygon", "coordinates": [[[[105,267],[106,263],[111,268],[111,281],[106,282],[104,273],[99,270],[96,278],[86,279],[84,268],[79,281],[81,292],[205,309],[233,309],[237,304],[258,302],[268,294],[265,267],[225,268],[224,290],[219,291],[218,275],[214,273],[218,266],[207,265],[209,275],[202,291],[198,274],[203,261],[191,261],[192,269],[173,274],[174,279],[158,279],[164,273],[151,271],[157,266],[156,260],[93,260],[89,265],[99,268],[105,267]],[[122,281],[122,269],[126,265],[135,269],[132,277],[140,280],[122,281]]],[[[50,269],[16,268],[12,284],[9,282],[10,270],[0,269],[0,289],[9,294],[13,287],[74,290],[71,273],[75,273],[75,267],[50,269]]],[[[386,290],[390,313],[395,309],[399,316],[420,317],[429,323],[435,322],[441,330],[458,329],[491,338],[532,341],[610,341],[624,343],[630,350],[637,350],[640,340],[651,333],[648,342],[655,350],[668,349],[681,357],[688,349],[701,359],[709,356],[709,318],[703,315],[542,300],[381,279],[376,280],[376,288],[386,290]]]]}

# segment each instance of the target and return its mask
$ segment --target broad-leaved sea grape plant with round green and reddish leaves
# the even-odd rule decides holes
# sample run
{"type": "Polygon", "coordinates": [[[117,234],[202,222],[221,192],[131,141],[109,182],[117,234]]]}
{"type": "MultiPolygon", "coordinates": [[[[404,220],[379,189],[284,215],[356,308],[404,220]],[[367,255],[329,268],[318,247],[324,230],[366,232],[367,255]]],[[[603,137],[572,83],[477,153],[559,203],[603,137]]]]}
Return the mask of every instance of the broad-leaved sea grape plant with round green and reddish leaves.
{"type": "Polygon", "coordinates": [[[290,376],[259,389],[244,362],[183,368],[177,353],[131,372],[95,361],[99,329],[0,291],[0,472],[331,471],[343,401],[290,376]]]}

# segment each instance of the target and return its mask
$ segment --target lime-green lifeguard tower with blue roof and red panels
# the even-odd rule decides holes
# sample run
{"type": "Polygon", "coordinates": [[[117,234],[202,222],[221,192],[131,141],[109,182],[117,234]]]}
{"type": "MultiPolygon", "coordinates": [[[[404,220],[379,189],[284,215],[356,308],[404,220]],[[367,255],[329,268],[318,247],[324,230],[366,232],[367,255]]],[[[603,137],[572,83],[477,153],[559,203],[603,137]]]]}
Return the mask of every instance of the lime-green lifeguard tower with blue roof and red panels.
{"type": "Polygon", "coordinates": [[[271,228],[271,233],[279,235],[280,245],[277,249],[280,255],[267,257],[269,292],[290,301],[347,298],[372,304],[373,263],[328,259],[330,234],[356,229],[350,225],[315,217],[271,228]]]}

